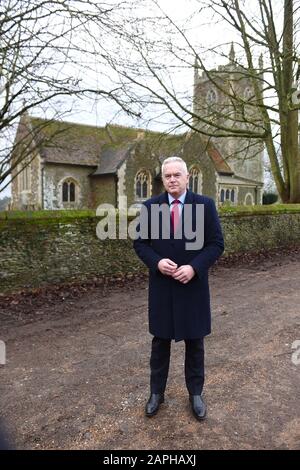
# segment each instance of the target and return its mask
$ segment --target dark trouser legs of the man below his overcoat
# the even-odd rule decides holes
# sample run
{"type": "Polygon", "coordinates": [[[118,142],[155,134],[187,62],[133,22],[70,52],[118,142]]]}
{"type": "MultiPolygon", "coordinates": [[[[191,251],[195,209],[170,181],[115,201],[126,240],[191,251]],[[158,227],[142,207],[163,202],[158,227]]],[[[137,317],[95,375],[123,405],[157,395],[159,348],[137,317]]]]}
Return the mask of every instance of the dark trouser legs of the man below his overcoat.
{"type": "MultiPolygon", "coordinates": [[[[203,338],[185,341],[185,383],[190,395],[201,395],[204,385],[203,338]]],[[[154,336],[150,358],[151,393],[164,393],[167,384],[171,353],[171,340],[154,336]]]]}

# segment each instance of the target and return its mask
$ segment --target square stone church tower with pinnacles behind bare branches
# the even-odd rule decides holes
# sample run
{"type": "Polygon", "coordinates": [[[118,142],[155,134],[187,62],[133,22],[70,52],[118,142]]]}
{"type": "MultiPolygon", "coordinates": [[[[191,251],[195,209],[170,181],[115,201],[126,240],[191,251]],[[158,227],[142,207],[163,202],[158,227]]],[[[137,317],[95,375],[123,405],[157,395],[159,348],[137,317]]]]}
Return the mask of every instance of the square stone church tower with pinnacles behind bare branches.
{"type": "MultiPolygon", "coordinates": [[[[253,83],[251,77],[247,77],[245,73],[247,70],[237,63],[233,43],[228,59],[226,65],[207,70],[207,72],[202,71],[202,73],[199,73],[196,59],[193,111],[208,122],[198,120],[195,116],[193,124],[213,134],[222,133],[222,129],[218,130],[209,123],[234,129],[259,129],[261,120],[254,106],[256,98],[253,83]],[[229,95],[237,97],[237,100],[230,98],[229,95]],[[250,123],[245,122],[245,116],[250,123]]],[[[262,57],[259,59],[258,66],[262,74],[262,57]]],[[[261,141],[231,136],[207,138],[211,138],[236,176],[263,182],[263,143],[261,141]]]]}

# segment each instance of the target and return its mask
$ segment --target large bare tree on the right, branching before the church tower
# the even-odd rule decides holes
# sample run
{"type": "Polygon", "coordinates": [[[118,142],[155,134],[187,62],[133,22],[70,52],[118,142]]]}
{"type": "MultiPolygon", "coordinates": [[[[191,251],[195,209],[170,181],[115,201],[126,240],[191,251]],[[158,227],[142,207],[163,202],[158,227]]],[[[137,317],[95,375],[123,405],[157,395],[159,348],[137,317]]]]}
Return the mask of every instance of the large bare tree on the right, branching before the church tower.
{"type": "Polygon", "coordinates": [[[201,47],[191,37],[188,20],[178,25],[162,10],[161,2],[150,3],[156,13],[126,26],[131,57],[114,59],[121,86],[129,87],[134,99],[140,100],[145,117],[147,109],[150,117],[159,109],[159,119],[164,113],[171,115],[174,128],[188,127],[222,142],[237,139],[243,158],[251,147],[251,155],[256,149],[261,152],[263,144],[282,201],[300,202],[299,1],[198,0],[190,22],[210,13],[217,37],[224,24],[232,31],[235,47],[230,62],[217,68],[211,68],[207,58],[224,62],[228,41],[201,47]],[[196,85],[201,76],[217,90],[217,102],[194,99],[192,103],[190,90],[176,87],[176,74],[191,68],[196,85]],[[243,81],[250,85],[247,95],[240,94],[243,81]]]}

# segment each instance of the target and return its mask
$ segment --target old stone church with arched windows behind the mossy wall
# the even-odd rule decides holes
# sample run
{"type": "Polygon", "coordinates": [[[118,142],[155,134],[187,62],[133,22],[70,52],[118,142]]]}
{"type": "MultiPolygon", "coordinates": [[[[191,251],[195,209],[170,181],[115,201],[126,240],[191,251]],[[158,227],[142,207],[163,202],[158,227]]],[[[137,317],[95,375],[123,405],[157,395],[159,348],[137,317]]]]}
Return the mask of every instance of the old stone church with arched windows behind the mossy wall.
{"type": "MultiPolygon", "coordinates": [[[[218,68],[216,86],[204,73],[198,73],[195,64],[195,115],[203,109],[224,106],[218,83],[228,86],[232,80],[235,92],[244,101],[251,99],[249,81],[236,80],[233,55],[231,49],[229,64],[218,68]]],[[[201,130],[201,126],[195,119],[194,127],[201,130]]],[[[30,151],[12,171],[12,209],[96,209],[102,203],[122,207],[124,196],[128,207],[138,205],[163,191],[161,163],[174,155],[187,163],[189,188],[212,197],[217,205],[262,203],[260,142],[214,138],[196,131],[170,135],[23,115],[16,141],[22,147],[29,138],[30,151]]],[[[14,158],[19,158],[17,152],[14,158]]]]}

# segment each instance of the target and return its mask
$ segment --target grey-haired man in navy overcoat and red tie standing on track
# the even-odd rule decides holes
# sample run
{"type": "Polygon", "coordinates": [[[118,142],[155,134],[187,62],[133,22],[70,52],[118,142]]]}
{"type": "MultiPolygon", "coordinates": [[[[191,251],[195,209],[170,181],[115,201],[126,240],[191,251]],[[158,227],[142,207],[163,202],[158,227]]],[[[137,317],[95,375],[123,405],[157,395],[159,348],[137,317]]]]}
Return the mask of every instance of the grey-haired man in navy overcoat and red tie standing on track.
{"type": "MultiPolygon", "coordinates": [[[[185,341],[186,386],[193,414],[202,420],[206,415],[201,396],[204,337],[211,332],[208,269],[222,254],[224,241],[214,201],[187,189],[184,160],[164,160],[162,180],[166,192],[143,204],[147,227],[145,231],[140,226],[134,241],[137,255],[149,268],[149,331],[153,339],[146,416],[156,414],[164,402],[174,339],[185,341]],[[169,236],[165,230],[168,224],[169,236]]],[[[145,224],[145,217],[142,222],[145,224]]]]}

